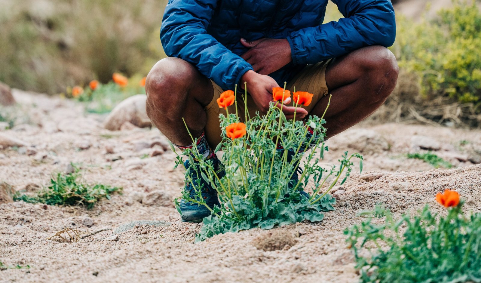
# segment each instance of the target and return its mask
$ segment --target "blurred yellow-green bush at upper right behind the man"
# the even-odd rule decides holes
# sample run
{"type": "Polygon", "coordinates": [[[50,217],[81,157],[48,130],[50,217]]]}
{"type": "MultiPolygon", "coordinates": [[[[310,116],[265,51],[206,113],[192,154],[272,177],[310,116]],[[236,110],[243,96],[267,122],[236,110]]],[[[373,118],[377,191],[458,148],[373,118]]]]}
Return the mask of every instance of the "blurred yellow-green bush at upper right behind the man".
{"type": "Polygon", "coordinates": [[[391,49],[400,68],[416,75],[422,98],[473,103],[480,113],[481,12],[476,1],[455,1],[438,18],[418,24],[398,17],[397,26],[391,49]]]}

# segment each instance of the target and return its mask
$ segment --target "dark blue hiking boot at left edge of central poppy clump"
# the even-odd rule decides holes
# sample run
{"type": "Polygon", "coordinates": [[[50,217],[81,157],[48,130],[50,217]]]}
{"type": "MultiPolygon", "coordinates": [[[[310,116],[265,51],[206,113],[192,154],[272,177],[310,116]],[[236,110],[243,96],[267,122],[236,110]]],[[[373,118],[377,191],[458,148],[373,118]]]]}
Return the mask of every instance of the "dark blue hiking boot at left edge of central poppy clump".
{"type": "MultiPolygon", "coordinates": [[[[195,161],[194,161],[195,162],[195,161]]],[[[219,169],[221,166],[221,163],[217,157],[214,157],[214,168],[219,169]]],[[[192,199],[197,199],[199,196],[195,192],[194,187],[192,186],[192,183],[197,186],[197,182],[200,179],[200,185],[202,186],[202,198],[209,206],[211,209],[214,208],[214,206],[220,206],[219,199],[217,198],[217,191],[212,188],[210,183],[207,183],[205,180],[202,179],[200,172],[197,174],[195,172],[195,169],[193,167],[190,167],[190,162],[189,160],[186,160],[184,162],[184,166],[187,171],[189,171],[189,175],[192,178],[192,182],[187,183],[184,186],[184,190],[187,190],[189,192],[189,196],[192,199]]],[[[217,175],[219,178],[222,178],[225,175],[225,171],[223,169],[220,170],[220,172],[217,172],[217,175]]],[[[180,208],[180,216],[182,218],[182,221],[184,222],[195,222],[199,223],[202,222],[204,218],[207,216],[211,215],[211,211],[203,206],[203,205],[198,205],[193,202],[186,201],[182,199],[179,204],[180,208]]]]}

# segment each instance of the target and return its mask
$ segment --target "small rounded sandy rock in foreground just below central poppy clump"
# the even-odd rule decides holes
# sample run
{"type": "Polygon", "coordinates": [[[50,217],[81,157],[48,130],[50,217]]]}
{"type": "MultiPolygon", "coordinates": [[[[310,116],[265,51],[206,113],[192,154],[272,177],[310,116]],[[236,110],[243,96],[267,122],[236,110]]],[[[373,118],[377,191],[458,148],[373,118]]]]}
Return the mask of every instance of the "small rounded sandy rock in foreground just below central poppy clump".
{"type": "Polygon", "coordinates": [[[264,232],[251,242],[257,249],[264,251],[282,250],[286,245],[293,246],[296,243],[292,233],[285,229],[264,232]]]}

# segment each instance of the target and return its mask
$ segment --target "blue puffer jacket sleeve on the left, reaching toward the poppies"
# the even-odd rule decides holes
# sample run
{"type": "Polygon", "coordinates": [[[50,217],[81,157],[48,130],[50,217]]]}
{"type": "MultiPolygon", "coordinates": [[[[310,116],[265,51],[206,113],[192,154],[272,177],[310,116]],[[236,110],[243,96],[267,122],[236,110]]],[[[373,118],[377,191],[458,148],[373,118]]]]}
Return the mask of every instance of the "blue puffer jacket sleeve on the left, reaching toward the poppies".
{"type": "Polygon", "coordinates": [[[230,90],[253,68],[207,34],[216,5],[217,0],[169,0],[160,39],[167,56],[194,64],[223,90],[230,90]]]}

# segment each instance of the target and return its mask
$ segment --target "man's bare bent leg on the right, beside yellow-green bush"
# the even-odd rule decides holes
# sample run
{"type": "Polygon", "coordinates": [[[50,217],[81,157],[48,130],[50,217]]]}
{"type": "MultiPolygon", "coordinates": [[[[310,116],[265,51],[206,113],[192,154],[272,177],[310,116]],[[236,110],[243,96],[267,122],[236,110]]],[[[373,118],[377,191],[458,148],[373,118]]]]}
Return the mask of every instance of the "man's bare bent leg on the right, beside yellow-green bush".
{"type": "MultiPolygon", "coordinates": [[[[396,58],[381,46],[358,49],[329,64],[326,83],[332,99],[325,116],[328,137],[378,109],[394,89],[398,73],[396,58]]],[[[328,100],[321,99],[309,114],[322,116],[328,100]]]]}

